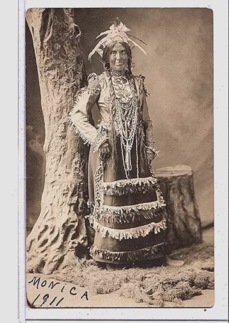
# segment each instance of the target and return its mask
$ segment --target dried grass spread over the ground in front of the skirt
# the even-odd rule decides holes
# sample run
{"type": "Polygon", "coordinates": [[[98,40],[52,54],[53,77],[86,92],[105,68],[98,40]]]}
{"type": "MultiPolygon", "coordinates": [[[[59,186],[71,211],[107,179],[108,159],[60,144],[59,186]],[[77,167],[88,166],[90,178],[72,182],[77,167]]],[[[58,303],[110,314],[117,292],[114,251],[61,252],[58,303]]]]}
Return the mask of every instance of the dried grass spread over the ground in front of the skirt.
{"type": "Polygon", "coordinates": [[[94,260],[72,258],[61,272],[51,278],[87,288],[93,294],[108,294],[119,290],[136,302],[163,307],[165,302],[182,301],[201,295],[203,289],[214,289],[214,248],[199,244],[180,249],[174,258],[185,261],[182,267],[161,266],[106,271],[94,260]]]}

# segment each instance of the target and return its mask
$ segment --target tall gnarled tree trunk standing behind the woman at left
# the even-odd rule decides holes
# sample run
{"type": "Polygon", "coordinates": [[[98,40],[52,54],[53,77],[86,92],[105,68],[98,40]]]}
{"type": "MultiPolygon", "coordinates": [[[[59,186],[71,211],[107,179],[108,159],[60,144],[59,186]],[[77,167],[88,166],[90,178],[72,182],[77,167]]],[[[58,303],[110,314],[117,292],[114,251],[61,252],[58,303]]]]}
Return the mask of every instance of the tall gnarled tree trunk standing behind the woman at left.
{"type": "Polygon", "coordinates": [[[37,62],[46,156],[41,212],[27,238],[27,272],[50,274],[77,246],[87,245],[88,148],[66,122],[85,72],[73,9],[29,9],[26,19],[37,62]]]}

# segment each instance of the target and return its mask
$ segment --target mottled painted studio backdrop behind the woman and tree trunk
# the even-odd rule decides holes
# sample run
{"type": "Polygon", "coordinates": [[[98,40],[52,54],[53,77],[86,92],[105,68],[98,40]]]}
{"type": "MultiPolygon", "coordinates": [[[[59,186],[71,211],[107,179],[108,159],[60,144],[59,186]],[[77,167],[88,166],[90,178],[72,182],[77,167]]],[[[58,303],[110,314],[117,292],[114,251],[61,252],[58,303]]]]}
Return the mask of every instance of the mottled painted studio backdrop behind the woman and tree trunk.
{"type": "MultiPolygon", "coordinates": [[[[147,45],[133,49],[134,74],[146,77],[149,114],[159,156],[153,168],[187,164],[203,225],[213,221],[213,17],[187,9],[76,9],[87,74],[100,74],[99,55],[87,60],[95,37],[119,17],[147,45]]],[[[139,41],[138,41],[139,42],[139,41]]],[[[94,109],[94,118],[98,119],[94,109]]],[[[30,32],[26,29],[27,228],[40,212],[44,183],[44,123],[30,32]]]]}

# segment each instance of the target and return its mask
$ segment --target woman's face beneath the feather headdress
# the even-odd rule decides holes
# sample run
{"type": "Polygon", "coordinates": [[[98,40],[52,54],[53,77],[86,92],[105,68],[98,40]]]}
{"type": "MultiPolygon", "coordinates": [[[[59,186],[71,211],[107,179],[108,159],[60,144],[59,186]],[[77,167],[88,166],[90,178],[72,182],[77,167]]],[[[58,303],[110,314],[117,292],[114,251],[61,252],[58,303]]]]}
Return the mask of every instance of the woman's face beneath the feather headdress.
{"type": "Polygon", "coordinates": [[[128,53],[122,44],[117,43],[113,46],[109,55],[109,62],[111,68],[117,71],[122,71],[127,66],[128,53]]]}

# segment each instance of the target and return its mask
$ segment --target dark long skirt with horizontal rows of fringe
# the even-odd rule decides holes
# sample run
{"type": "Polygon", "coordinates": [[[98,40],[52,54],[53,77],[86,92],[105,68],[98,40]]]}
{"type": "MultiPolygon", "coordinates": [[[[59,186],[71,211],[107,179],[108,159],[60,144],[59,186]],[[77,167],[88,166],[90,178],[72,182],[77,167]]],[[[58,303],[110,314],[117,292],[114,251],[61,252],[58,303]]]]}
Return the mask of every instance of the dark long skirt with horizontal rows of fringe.
{"type": "Polygon", "coordinates": [[[156,178],[147,165],[139,165],[132,148],[132,171],[126,179],[121,145],[117,168],[109,157],[105,164],[90,149],[88,180],[90,223],[95,230],[90,249],[96,261],[133,264],[161,257],[165,240],[165,209],[156,178]],[[141,167],[140,167],[141,166],[141,167]]]}

